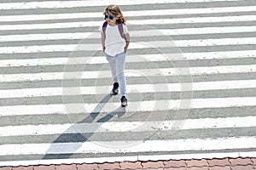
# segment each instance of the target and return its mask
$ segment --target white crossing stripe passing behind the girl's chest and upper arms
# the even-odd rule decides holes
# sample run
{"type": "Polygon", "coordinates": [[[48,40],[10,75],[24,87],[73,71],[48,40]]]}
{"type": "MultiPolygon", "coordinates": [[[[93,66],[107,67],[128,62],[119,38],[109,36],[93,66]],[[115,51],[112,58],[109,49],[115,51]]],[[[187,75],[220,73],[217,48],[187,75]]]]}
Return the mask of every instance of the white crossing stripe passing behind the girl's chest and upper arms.
{"type": "MultiPolygon", "coordinates": [[[[228,27],[203,27],[203,28],[183,28],[171,30],[144,30],[129,31],[131,37],[148,37],[153,36],[177,36],[177,35],[197,35],[197,34],[224,34],[238,32],[254,32],[256,26],[228,26],[228,27]]],[[[9,35],[0,36],[0,42],[11,41],[35,41],[35,40],[59,40],[59,39],[86,39],[100,38],[98,32],[76,32],[76,33],[52,33],[52,34],[25,34],[25,35],[9,35]]],[[[170,37],[171,38],[171,37],[170,37]]]]}

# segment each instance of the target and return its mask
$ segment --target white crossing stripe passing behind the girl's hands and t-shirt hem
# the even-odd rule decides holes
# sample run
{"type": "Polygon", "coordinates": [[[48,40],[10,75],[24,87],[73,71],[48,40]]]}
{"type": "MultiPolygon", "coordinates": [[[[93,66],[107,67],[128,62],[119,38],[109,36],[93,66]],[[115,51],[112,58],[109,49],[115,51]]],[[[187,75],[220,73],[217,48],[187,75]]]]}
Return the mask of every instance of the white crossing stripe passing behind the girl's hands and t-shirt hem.
{"type": "MultiPolygon", "coordinates": [[[[256,37],[221,38],[221,39],[196,39],[196,40],[175,40],[156,42],[131,42],[129,48],[182,48],[199,46],[218,45],[250,45],[256,44],[256,37]]],[[[43,52],[64,52],[64,51],[97,51],[102,50],[102,44],[64,44],[64,45],[42,45],[42,46],[20,46],[0,47],[1,54],[17,53],[43,53],[43,52]]]]}

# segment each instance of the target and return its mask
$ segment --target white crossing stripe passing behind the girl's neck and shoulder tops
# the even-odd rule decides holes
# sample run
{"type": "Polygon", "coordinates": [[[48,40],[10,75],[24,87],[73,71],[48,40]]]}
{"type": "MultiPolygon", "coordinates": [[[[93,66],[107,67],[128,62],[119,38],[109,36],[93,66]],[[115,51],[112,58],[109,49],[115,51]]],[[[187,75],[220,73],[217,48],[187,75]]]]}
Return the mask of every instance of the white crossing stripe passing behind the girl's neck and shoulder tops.
{"type": "MultiPolygon", "coordinates": [[[[129,25],[165,25],[178,23],[208,23],[208,22],[234,22],[234,21],[253,21],[256,20],[256,15],[241,15],[241,16],[222,16],[222,17],[195,17],[181,19],[157,19],[157,20],[129,20],[129,25]]],[[[0,30],[32,30],[32,29],[57,29],[57,28],[76,28],[88,26],[101,26],[103,21],[88,21],[88,22],[65,22],[65,23],[49,23],[49,24],[29,24],[29,25],[2,25],[0,30]]]]}

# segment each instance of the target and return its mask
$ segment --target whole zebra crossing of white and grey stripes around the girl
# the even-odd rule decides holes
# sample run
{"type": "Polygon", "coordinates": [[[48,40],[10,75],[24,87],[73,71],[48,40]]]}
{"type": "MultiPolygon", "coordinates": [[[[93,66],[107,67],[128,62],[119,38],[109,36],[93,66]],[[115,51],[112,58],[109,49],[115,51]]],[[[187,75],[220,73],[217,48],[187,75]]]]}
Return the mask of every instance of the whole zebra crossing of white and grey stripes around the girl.
{"type": "Polygon", "coordinates": [[[1,0],[0,166],[256,155],[256,3],[1,0]],[[131,45],[109,95],[102,11],[131,45]]]}

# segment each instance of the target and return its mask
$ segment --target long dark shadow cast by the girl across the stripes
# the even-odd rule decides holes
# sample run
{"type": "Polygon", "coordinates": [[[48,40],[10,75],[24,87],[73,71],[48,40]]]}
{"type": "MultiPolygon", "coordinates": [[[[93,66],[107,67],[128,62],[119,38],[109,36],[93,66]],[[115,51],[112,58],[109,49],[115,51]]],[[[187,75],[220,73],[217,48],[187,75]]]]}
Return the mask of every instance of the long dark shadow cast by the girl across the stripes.
{"type": "Polygon", "coordinates": [[[64,133],[62,133],[57,139],[55,139],[55,141],[49,146],[49,149],[46,151],[46,154],[44,155],[42,160],[70,158],[71,156],[73,156],[73,153],[75,152],[75,150],[78,150],[84,142],[90,140],[90,137],[94,134],[94,132],[96,132],[96,130],[99,127],[101,127],[102,123],[108,122],[113,118],[113,116],[118,116],[118,117],[124,116],[125,107],[120,106],[117,110],[108,113],[108,115],[103,116],[102,118],[96,121],[100,123],[93,123],[93,125],[91,125],[90,127],[91,133],[68,133],[70,131],[73,131],[74,129],[77,129],[79,131],[79,124],[81,123],[95,122],[96,117],[100,115],[102,108],[104,107],[104,105],[108,103],[111,97],[112,97],[112,94],[106,95],[99,102],[99,104],[96,105],[96,108],[94,109],[94,111],[90,113],[89,116],[86,116],[83,121],[74,123],[73,126],[67,128],[67,130],[64,133]],[[73,144],[72,148],[69,147],[70,145],[65,144],[65,143],[72,143],[72,142],[76,143],[76,144],[73,144]],[[60,151],[61,151],[61,154],[58,153],[60,151]]]}

